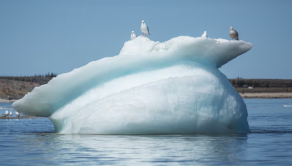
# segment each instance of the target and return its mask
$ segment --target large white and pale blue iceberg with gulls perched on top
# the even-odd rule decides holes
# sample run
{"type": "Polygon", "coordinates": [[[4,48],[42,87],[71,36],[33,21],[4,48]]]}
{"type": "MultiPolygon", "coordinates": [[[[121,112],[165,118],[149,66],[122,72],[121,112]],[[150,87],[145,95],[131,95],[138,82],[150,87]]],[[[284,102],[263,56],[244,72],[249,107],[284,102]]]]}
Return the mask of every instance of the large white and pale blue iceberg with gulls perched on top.
{"type": "Polygon", "coordinates": [[[136,37],[119,55],[60,74],[12,106],[48,117],[56,133],[248,133],[246,105],[218,68],[253,47],[207,37],[136,37]]]}

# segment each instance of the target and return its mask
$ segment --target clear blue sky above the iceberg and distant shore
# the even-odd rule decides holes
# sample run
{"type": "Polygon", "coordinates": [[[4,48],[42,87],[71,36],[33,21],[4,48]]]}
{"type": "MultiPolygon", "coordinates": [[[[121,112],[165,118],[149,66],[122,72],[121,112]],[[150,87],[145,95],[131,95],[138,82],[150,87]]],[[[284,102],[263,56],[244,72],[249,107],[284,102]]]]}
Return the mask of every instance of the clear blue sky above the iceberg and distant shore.
{"type": "Polygon", "coordinates": [[[62,74],[118,55],[141,20],[160,42],[230,39],[233,26],[255,48],[223,74],[292,79],[292,0],[0,0],[0,75],[62,74]]]}

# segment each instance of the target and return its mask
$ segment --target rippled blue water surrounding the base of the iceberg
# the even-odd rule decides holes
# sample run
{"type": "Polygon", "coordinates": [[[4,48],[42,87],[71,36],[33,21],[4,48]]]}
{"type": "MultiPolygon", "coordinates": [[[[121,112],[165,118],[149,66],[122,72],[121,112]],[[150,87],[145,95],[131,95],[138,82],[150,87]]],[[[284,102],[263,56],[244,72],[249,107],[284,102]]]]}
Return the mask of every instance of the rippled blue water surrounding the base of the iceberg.
{"type": "Polygon", "coordinates": [[[53,134],[47,118],[0,119],[0,166],[292,166],[292,99],[245,103],[249,134],[53,134]]]}

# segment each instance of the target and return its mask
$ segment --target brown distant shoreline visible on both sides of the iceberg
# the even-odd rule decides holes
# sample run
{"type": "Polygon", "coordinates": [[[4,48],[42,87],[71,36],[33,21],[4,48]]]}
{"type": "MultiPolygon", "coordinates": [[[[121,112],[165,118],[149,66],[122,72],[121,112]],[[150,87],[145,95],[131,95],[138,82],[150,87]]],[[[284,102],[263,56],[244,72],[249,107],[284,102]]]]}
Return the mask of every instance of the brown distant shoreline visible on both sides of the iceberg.
{"type": "MultiPolygon", "coordinates": [[[[47,84],[54,73],[34,76],[0,76],[0,102],[14,102],[35,87],[47,84]]],[[[292,98],[292,79],[229,79],[242,98],[292,98]]]]}

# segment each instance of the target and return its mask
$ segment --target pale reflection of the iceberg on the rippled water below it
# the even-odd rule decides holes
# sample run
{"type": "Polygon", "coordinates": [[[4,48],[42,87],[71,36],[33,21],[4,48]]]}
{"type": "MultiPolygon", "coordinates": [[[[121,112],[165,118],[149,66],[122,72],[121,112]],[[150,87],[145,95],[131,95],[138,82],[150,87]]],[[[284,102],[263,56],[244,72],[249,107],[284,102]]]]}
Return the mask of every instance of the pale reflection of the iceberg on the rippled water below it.
{"type": "MultiPolygon", "coordinates": [[[[86,164],[238,164],[247,134],[227,135],[19,135],[27,160],[86,164]],[[30,141],[28,142],[29,139],[30,141]],[[29,149],[29,150],[27,150],[29,149]],[[37,156],[32,153],[38,153],[37,156]]],[[[78,164],[76,164],[78,165],[78,164]]]]}

